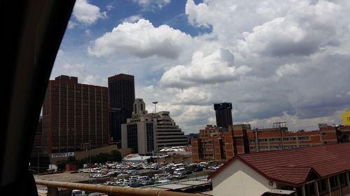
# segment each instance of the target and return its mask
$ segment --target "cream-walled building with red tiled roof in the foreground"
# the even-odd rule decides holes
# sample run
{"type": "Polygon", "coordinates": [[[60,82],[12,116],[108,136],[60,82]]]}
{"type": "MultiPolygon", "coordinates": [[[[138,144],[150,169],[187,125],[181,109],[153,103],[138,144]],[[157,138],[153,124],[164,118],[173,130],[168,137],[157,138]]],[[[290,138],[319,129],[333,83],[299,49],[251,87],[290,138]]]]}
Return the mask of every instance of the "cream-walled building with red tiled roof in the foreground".
{"type": "Polygon", "coordinates": [[[231,158],[209,176],[214,196],[349,195],[350,143],[231,158]]]}

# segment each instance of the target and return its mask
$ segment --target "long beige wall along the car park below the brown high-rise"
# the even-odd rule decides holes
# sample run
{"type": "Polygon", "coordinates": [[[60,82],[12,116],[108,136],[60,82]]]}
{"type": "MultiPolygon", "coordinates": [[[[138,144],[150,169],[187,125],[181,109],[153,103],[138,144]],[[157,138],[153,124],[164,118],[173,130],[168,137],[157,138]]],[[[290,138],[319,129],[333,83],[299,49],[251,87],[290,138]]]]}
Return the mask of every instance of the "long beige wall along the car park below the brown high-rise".
{"type": "MultiPolygon", "coordinates": [[[[117,145],[111,145],[111,146],[104,146],[104,147],[101,147],[98,149],[92,149],[90,151],[90,155],[94,156],[94,155],[97,155],[99,153],[109,153],[109,152],[115,151],[115,150],[120,152],[120,154],[122,155],[122,158],[123,158],[123,156],[125,156],[131,152],[130,149],[117,149],[117,145]]],[[[82,159],[85,157],[89,157],[89,151],[77,151],[77,152],[74,152],[74,156],[76,157],[76,159],[82,159]]],[[[50,158],[50,162],[52,164],[56,164],[57,161],[59,161],[59,160],[67,160],[67,159],[68,158],[50,158]]]]}

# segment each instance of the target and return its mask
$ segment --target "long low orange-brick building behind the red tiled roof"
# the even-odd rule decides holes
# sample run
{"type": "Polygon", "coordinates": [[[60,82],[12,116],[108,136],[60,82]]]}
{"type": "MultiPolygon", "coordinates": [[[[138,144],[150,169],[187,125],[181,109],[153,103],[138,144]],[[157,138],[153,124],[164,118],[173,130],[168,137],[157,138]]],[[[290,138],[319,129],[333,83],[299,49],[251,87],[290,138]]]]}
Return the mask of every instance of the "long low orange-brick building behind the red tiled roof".
{"type": "Polygon", "coordinates": [[[225,128],[207,126],[191,140],[193,162],[225,162],[242,153],[297,149],[324,144],[350,142],[350,126],[323,126],[313,131],[288,131],[286,126],[255,128],[233,125],[225,128]]]}

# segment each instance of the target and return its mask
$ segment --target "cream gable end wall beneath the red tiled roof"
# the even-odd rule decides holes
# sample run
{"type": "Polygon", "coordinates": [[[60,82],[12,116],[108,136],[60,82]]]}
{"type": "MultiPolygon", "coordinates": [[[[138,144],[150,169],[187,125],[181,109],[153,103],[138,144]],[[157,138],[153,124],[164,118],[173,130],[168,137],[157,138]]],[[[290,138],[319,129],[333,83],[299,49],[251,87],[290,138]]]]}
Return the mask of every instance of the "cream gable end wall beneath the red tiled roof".
{"type": "Polygon", "coordinates": [[[276,183],[269,186],[269,180],[240,160],[235,160],[228,165],[214,176],[212,181],[214,196],[260,196],[262,193],[276,188],[276,183]]]}

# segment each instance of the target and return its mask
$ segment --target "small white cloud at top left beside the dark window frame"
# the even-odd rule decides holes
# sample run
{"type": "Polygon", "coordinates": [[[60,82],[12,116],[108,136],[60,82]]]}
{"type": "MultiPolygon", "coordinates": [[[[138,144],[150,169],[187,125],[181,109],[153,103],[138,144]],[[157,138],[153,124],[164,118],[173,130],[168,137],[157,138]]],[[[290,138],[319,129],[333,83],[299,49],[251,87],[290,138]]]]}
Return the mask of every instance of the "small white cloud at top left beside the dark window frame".
{"type": "Polygon", "coordinates": [[[90,4],[87,0],[76,1],[73,16],[78,22],[84,24],[94,24],[97,20],[107,17],[106,12],[100,12],[99,7],[90,4]]]}

